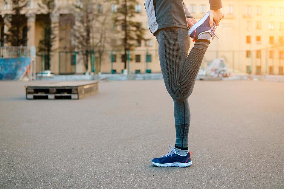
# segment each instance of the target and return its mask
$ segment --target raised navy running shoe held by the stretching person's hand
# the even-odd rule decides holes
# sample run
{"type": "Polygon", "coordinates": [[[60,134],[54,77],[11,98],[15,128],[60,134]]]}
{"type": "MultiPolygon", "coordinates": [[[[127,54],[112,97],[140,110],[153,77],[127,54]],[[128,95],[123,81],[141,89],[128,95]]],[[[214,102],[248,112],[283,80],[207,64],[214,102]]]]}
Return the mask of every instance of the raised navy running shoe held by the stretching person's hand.
{"type": "MultiPolygon", "coordinates": [[[[210,27],[209,18],[210,12],[208,11],[198,22],[196,22],[188,31],[188,35],[193,38],[193,41],[200,40],[199,36],[202,33],[210,33],[212,39],[215,37],[216,23],[213,21],[213,26],[210,27]]],[[[216,36],[217,37],[217,36],[216,36]]],[[[218,38],[218,37],[217,37],[218,38]]],[[[218,38],[219,39],[219,38],[218,38]]],[[[204,39],[202,39],[204,40],[204,39]]],[[[210,40],[207,40],[210,43],[210,40]]]]}

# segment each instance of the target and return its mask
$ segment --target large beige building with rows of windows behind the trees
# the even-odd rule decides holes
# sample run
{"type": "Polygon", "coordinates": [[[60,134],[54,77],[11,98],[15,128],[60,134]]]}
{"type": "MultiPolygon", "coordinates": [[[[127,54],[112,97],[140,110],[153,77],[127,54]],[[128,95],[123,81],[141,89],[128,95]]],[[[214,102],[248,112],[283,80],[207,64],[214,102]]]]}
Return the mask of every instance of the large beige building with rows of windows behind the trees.
{"type": "MultiPolygon", "coordinates": [[[[42,33],[41,16],[44,10],[39,10],[38,2],[30,0],[25,9],[25,15],[28,17],[28,46],[37,47],[42,33]]],[[[58,74],[62,73],[83,73],[83,65],[80,53],[74,56],[72,49],[71,26],[62,24],[61,18],[70,14],[70,6],[74,1],[57,0],[56,11],[52,16],[54,25],[58,25],[55,31],[57,38],[54,42],[54,53],[51,59],[51,70],[58,74]],[[60,52],[60,53],[59,53],[60,52]],[[75,58],[75,59],[74,59],[75,58]],[[74,65],[74,60],[76,65],[74,65]]],[[[158,43],[155,36],[148,30],[146,11],[144,1],[139,0],[140,4],[135,6],[138,12],[134,18],[141,22],[145,28],[144,38],[146,41],[138,43],[134,50],[129,52],[128,69],[130,72],[145,72],[151,69],[152,72],[161,72],[158,60],[158,43]]],[[[209,9],[208,0],[184,0],[196,20],[200,19],[209,9]]],[[[103,6],[103,11],[111,13],[114,5],[103,6]]],[[[101,7],[100,7],[101,8],[101,7]]],[[[284,66],[284,1],[283,0],[223,0],[223,11],[225,18],[220,22],[216,29],[216,35],[222,39],[215,38],[204,56],[202,67],[207,66],[215,58],[224,58],[226,65],[234,73],[253,74],[280,74],[283,75],[284,66]]],[[[11,4],[9,1],[0,1],[0,12],[2,18],[5,14],[11,13],[11,4]]],[[[5,20],[1,19],[1,37],[3,32],[7,31],[4,25],[5,20]],[[4,27],[3,27],[4,26],[4,27]]],[[[118,28],[119,29],[119,28],[118,28]]],[[[109,36],[121,38],[120,33],[109,36]]],[[[88,71],[93,69],[98,72],[121,72],[124,68],[123,51],[112,48],[114,40],[108,41],[105,52],[102,56],[102,63],[98,65],[98,55],[95,55],[95,64],[88,66],[88,71]],[[112,56],[111,56],[112,55],[112,56]],[[111,58],[112,57],[112,58],[111,58]],[[113,62],[111,61],[113,60],[113,62]]],[[[1,46],[7,45],[1,39],[1,46]]],[[[193,42],[191,47],[193,46],[193,42]]],[[[78,49],[77,49],[78,50],[78,49]]],[[[43,69],[43,57],[36,58],[36,72],[43,69]]]]}

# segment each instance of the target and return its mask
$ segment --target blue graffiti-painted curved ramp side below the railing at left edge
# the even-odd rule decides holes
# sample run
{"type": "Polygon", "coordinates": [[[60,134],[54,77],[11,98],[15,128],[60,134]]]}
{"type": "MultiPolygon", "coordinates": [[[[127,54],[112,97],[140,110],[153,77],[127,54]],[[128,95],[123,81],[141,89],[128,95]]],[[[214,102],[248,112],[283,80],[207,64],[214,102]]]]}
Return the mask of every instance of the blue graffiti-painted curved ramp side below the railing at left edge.
{"type": "Polygon", "coordinates": [[[29,65],[30,58],[0,58],[0,80],[19,80],[29,65]]]}

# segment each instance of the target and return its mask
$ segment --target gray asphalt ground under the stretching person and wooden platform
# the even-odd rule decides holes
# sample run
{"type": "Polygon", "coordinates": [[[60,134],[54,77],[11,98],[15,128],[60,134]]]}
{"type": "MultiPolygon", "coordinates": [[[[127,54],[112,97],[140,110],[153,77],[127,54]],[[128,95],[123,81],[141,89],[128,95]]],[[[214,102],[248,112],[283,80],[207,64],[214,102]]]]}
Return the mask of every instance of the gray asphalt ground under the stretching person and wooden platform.
{"type": "Polygon", "coordinates": [[[158,168],[174,145],[162,80],[100,83],[82,100],[25,100],[0,82],[0,188],[283,188],[284,83],[198,81],[189,168],[158,168]]]}

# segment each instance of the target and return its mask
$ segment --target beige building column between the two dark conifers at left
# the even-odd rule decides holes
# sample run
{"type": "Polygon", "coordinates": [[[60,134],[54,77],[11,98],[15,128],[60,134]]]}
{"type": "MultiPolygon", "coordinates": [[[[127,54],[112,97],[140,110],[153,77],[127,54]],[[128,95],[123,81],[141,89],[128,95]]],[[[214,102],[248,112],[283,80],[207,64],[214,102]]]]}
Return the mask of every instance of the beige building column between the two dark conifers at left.
{"type": "Polygon", "coordinates": [[[27,26],[28,26],[28,47],[36,46],[36,15],[35,14],[26,14],[28,18],[27,26]]]}

